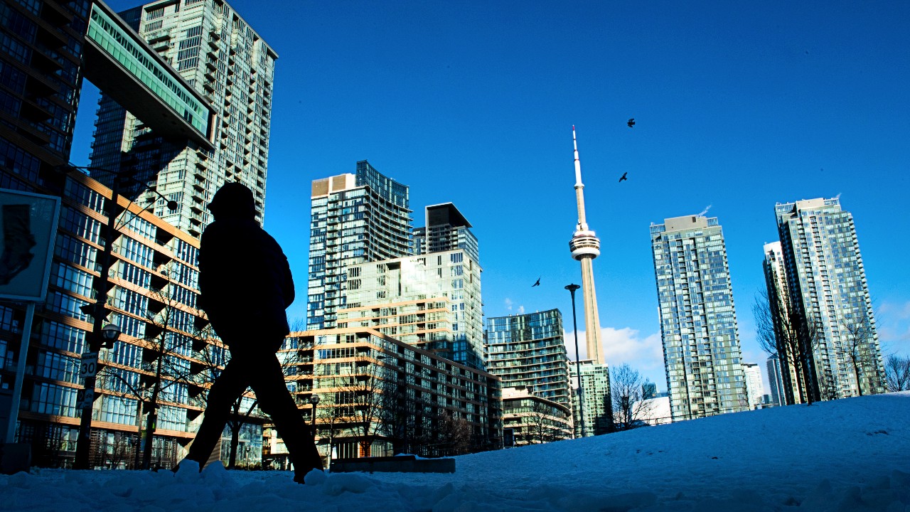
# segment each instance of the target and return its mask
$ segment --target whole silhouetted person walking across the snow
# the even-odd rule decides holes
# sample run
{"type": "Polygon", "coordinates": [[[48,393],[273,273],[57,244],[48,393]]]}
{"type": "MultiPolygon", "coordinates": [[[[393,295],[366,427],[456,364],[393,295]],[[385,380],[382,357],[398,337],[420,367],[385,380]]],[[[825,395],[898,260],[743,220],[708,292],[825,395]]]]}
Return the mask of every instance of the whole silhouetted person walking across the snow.
{"type": "Polygon", "coordinates": [[[308,425],[285,386],[275,353],[290,332],[285,309],[294,302],[288,259],[259,227],[253,192],[227,183],[208,204],[215,221],[199,245],[199,305],[231,359],[208,392],[206,413],[187,459],[205,465],[230,415],[231,404],[251,387],[288,446],[294,480],[322,460],[308,425]]]}

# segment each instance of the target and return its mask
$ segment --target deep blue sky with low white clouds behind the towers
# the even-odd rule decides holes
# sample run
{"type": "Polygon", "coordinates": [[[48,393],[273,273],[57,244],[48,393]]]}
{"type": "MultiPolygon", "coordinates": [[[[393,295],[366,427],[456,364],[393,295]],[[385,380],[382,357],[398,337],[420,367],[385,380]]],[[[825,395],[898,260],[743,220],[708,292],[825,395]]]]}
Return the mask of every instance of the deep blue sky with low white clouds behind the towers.
{"type": "Polygon", "coordinates": [[[266,228],[296,276],[291,317],[306,311],[310,181],[369,159],[410,186],[415,226],[446,201],[474,225],[487,316],[559,308],[571,348],[575,125],[610,364],[665,389],[648,226],[707,209],[743,359],[763,366],[752,305],[774,203],[835,196],[854,214],[883,351],[910,353],[910,3],[229,4],[278,53],[266,228]]]}

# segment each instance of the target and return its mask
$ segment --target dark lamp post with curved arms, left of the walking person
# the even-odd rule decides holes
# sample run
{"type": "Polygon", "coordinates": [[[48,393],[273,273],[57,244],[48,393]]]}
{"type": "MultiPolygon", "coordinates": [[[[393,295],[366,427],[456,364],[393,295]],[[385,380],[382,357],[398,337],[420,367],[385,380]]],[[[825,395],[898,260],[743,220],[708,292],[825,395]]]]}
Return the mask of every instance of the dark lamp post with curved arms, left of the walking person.
{"type": "MultiPolygon", "coordinates": [[[[118,205],[117,200],[119,198],[120,192],[120,179],[130,177],[121,176],[119,172],[96,168],[96,167],[76,167],[76,166],[62,166],[61,169],[66,170],[97,170],[102,172],[107,172],[114,175],[114,179],[111,184],[111,199],[110,206],[107,209],[107,230],[105,232],[105,250],[101,254],[101,268],[100,275],[95,280],[95,304],[91,304],[88,307],[83,307],[82,311],[90,314],[93,317],[94,324],[92,328],[92,335],[88,339],[88,352],[83,353],[83,363],[87,367],[93,369],[92,373],[85,374],[85,384],[82,390],[82,401],[77,406],[81,406],[82,416],[79,418],[79,437],[76,440],[76,458],[73,461],[73,467],[75,469],[88,469],[89,463],[89,448],[91,445],[91,431],[92,431],[92,404],[95,402],[95,384],[96,384],[96,374],[94,370],[98,366],[98,350],[102,347],[113,346],[114,341],[120,335],[120,328],[116,324],[109,324],[104,326],[105,319],[107,318],[107,286],[108,286],[108,274],[110,273],[111,268],[111,249],[114,244],[114,233],[117,230],[116,227],[116,217],[118,214],[118,205]]],[[[157,195],[167,200],[164,196],[161,195],[157,190],[149,189],[147,185],[139,181],[138,183],[142,184],[148,190],[152,190],[157,195]]],[[[177,210],[177,203],[172,200],[167,200],[167,208],[170,210],[177,210]]]]}

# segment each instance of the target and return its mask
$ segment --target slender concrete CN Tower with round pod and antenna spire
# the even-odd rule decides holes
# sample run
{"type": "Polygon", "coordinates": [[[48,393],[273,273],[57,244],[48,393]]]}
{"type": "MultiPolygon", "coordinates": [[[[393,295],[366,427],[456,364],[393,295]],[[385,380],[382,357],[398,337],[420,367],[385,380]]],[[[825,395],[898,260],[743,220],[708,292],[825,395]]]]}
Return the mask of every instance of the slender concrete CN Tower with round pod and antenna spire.
{"type": "Polygon", "coordinates": [[[581,261],[581,294],[584,296],[584,337],[588,344],[588,359],[606,364],[601,349],[601,318],[597,314],[597,293],[594,292],[594,258],[601,255],[601,241],[588,228],[584,218],[584,184],[581,183],[581,162],[575,127],[571,127],[571,142],[575,149],[575,203],[578,205],[578,225],[569,241],[571,257],[581,261]]]}

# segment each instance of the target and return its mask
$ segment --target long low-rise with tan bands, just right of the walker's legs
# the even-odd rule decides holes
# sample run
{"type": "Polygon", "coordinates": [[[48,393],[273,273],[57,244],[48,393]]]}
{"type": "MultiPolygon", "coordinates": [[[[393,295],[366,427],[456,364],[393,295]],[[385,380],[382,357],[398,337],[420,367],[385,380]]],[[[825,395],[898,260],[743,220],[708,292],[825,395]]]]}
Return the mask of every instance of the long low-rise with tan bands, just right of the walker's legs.
{"type": "Polygon", "coordinates": [[[295,361],[288,389],[315,422],[327,462],[501,446],[501,381],[492,374],[362,327],[291,333],[279,354],[295,361]]]}

